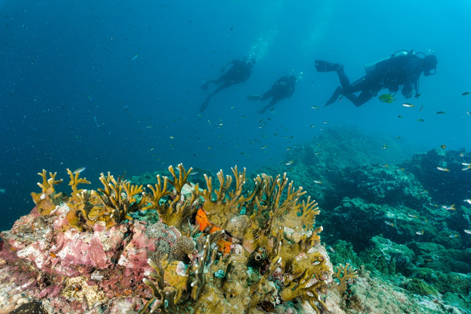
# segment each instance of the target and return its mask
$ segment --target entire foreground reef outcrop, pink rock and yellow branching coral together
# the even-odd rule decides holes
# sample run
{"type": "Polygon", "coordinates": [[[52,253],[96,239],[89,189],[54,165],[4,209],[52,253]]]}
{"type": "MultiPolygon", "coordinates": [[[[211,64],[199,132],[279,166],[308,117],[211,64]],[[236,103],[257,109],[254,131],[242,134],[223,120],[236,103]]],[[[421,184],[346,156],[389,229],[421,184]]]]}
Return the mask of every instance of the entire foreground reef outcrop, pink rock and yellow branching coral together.
{"type": "Polygon", "coordinates": [[[146,191],[110,173],[80,189],[90,182],[67,169],[70,196],[39,173],[36,207],[1,233],[0,314],[37,302],[45,313],[328,311],[332,265],[302,187],[286,173],[247,184],[235,166],[200,189],[192,168],[168,170],[146,191]]]}

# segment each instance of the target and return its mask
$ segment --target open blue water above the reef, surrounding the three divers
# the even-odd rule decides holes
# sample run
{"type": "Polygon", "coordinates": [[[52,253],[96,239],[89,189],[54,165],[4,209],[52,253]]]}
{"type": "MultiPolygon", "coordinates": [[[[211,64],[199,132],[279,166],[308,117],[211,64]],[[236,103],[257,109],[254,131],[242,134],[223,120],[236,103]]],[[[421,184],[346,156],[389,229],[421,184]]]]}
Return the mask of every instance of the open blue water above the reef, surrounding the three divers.
{"type": "Polygon", "coordinates": [[[67,167],[87,166],[93,184],[100,172],[139,175],[179,162],[256,170],[335,126],[400,136],[416,152],[469,150],[471,2],[412,2],[1,1],[0,229],[33,207],[43,168],[66,179],[67,167]],[[322,107],[339,84],[314,59],[342,63],[355,80],[400,49],[438,57],[416,108],[401,106],[399,94],[393,104],[322,107]],[[214,96],[200,115],[214,88],[201,83],[249,55],[258,62],[247,83],[214,96]],[[246,96],[280,72],[303,76],[290,99],[258,114],[266,102],[246,96]]]}

